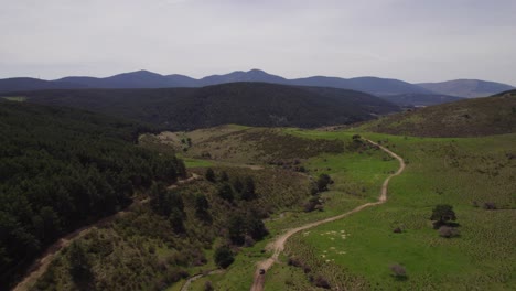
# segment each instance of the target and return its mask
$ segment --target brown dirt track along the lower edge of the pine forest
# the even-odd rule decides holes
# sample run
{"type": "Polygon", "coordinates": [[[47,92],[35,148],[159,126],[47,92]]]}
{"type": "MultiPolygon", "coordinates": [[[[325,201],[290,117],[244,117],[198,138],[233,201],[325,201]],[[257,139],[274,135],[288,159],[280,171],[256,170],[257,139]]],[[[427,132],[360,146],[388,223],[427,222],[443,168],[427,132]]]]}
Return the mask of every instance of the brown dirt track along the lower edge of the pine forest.
{"type": "MultiPolygon", "coordinates": [[[[190,182],[195,181],[197,179],[200,179],[200,175],[192,174],[191,177],[178,181],[178,183],[169,186],[169,188],[175,188],[175,187],[178,187],[178,185],[190,183],[190,182]]],[[[60,238],[56,242],[51,245],[45,250],[45,252],[34,263],[32,263],[32,266],[29,268],[29,271],[26,272],[25,277],[23,278],[23,280],[20,283],[18,283],[12,289],[12,291],[29,290],[37,281],[37,279],[46,271],[46,269],[49,268],[52,260],[55,258],[55,256],[63,248],[69,246],[72,244],[72,241],[74,241],[75,239],[80,238],[84,235],[86,235],[89,230],[92,230],[92,228],[104,225],[104,224],[107,224],[107,223],[110,223],[116,217],[119,217],[119,216],[123,215],[125,213],[127,213],[127,209],[130,208],[131,206],[136,205],[136,204],[144,204],[144,203],[148,203],[148,202],[149,202],[148,198],[143,200],[143,201],[135,201],[131,205],[129,205],[125,209],[122,209],[122,211],[120,211],[120,212],[118,212],[118,213],[116,213],[116,214],[114,214],[111,216],[105,217],[105,218],[103,218],[103,219],[100,219],[100,220],[98,220],[98,222],[96,222],[94,224],[84,226],[84,227],[82,227],[82,228],[79,228],[79,229],[77,229],[77,230],[75,230],[75,231],[60,238]]]]}

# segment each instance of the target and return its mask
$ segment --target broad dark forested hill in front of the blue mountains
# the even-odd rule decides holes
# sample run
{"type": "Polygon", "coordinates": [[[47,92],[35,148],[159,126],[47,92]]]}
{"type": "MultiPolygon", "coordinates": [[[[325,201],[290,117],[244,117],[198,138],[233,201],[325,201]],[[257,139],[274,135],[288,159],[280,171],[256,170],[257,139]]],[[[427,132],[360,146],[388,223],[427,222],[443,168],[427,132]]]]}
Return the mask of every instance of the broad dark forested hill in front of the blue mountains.
{"type": "Polygon", "coordinates": [[[226,123],[312,128],[370,120],[399,110],[365,93],[265,83],[203,88],[45,90],[21,95],[33,103],[77,107],[173,130],[226,123]]]}

